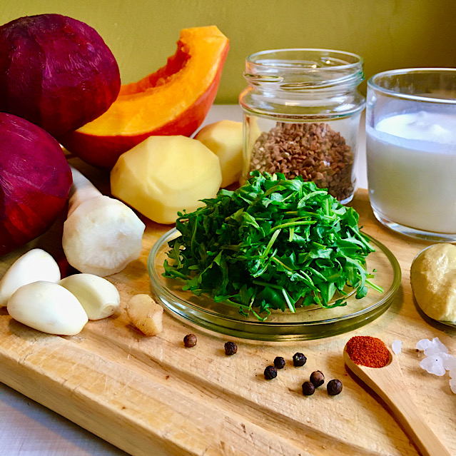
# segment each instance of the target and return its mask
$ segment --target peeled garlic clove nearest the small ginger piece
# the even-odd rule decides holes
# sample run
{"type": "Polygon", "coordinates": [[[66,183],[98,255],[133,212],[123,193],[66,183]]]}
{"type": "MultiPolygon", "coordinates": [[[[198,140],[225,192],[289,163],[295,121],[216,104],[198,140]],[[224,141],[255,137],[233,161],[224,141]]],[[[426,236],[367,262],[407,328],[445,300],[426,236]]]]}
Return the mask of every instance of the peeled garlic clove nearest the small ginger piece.
{"type": "Polygon", "coordinates": [[[98,275],[69,275],[60,280],[59,285],[76,296],[89,320],[110,317],[121,305],[121,296],[116,286],[98,275]]]}

